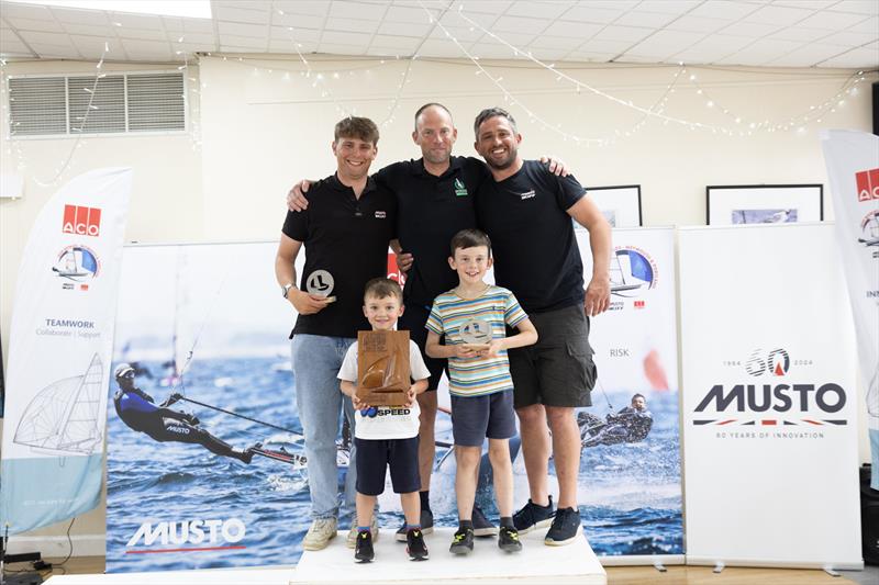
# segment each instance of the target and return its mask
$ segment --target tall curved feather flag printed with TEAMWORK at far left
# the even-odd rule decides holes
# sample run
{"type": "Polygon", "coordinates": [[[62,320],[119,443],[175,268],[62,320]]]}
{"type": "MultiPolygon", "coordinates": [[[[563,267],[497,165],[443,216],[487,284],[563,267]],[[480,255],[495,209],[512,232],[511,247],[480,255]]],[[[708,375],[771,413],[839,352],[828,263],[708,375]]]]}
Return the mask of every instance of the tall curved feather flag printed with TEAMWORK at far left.
{"type": "Polygon", "coordinates": [[[132,171],[98,169],[44,205],[10,330],[0,519],[24,532],[97,506],[104,392],[132,171]]]}

